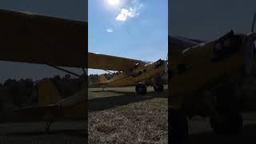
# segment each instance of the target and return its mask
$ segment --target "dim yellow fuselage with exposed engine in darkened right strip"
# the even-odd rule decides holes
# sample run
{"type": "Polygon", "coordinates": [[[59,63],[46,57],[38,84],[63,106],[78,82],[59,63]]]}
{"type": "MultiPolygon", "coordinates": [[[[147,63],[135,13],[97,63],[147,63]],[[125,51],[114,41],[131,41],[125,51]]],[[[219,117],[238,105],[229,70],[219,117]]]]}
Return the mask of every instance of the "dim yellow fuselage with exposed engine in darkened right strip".
{"type": "Polygon", "coordinates": [[[217,45],[218,42],[213,41],[193,46],[183,51],[182,57],[174,59],[170,80],[171,106],[174,109],[198,115],[198,111],[205,110],[206,97],[200,95],[202,90],[210,90],[216,83],[242,70],[243,50],[231,50],[218,58],[221,53],[216,51],[217,45]]]}

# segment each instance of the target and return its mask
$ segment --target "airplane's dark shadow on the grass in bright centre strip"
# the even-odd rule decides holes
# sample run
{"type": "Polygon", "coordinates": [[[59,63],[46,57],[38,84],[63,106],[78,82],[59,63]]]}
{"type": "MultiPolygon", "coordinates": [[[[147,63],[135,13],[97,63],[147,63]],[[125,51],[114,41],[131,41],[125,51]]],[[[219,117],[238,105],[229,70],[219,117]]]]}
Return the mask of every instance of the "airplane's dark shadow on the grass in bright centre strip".
{"type": "MultiPolygon", "coordinates": [[[[150,91],[146,95],[136,95],[134,92],[106,90],[105,92],[114,92],[121,95],[89,99],[89,111],[106,110],[116,106],[123,106],[133,102],[142,102],[152,98],[167,98],[167,91],[168,90],[164,90],[161,93],[150,91]]],[[[102,93],[102,90],[94,90],[92,92],[102,93]]]]}

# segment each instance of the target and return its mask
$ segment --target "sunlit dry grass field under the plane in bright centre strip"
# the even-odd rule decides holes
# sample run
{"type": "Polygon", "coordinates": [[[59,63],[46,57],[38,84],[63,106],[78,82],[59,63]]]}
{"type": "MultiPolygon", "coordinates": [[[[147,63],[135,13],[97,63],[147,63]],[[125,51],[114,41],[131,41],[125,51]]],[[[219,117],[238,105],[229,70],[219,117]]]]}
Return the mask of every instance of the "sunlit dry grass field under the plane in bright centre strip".
{"type": "Polygon", "coordinates": [[[145,96],[134,86],[89,89],[89,143],[167,143],[167,86],[148,87],[145,96]]]}

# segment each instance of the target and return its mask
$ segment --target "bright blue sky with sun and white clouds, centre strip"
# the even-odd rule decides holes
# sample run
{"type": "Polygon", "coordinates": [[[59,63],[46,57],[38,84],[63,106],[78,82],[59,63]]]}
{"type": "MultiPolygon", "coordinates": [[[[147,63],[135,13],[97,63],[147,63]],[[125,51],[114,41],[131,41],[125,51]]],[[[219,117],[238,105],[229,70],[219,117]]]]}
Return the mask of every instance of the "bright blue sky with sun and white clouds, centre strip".
{"type": "Polygon", "coordinates": [[[88,6],[90,52],[150,62],[166,58],[168,0],[89,0],[88,6]]]}

